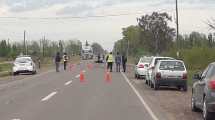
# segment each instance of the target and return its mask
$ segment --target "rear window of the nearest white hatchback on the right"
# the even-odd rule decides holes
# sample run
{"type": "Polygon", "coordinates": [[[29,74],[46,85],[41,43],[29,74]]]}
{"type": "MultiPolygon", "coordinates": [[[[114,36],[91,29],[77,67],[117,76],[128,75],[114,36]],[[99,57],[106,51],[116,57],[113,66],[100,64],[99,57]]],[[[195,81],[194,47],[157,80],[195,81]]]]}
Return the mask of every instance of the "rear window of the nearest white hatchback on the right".
{"type": "Polygon", "coordinates": [[[174,70],[174,71],[184,71],[185,67],[182,62],[179,61],[162,61],[160,63],[160,70],[174,70]]]}

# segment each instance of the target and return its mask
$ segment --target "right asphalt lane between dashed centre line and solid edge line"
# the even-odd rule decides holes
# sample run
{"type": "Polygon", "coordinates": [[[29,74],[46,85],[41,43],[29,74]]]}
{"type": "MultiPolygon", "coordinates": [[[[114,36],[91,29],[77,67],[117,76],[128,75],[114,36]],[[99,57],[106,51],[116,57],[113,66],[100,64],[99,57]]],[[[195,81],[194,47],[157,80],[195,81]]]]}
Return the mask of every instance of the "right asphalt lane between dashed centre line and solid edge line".
{"type": "Polygon", "coordinates": [[[105,81],[104,68],[85,73],[53,99],[27,114],[27,120],[152,120],[120,73],[105,81]]]}

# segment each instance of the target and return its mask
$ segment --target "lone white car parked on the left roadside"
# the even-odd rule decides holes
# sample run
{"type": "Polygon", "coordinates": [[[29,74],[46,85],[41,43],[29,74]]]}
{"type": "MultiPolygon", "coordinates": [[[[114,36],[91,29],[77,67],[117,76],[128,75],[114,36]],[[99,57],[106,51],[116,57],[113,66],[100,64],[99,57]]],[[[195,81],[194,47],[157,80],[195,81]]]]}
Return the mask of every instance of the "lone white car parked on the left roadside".
{"type": "Polygon", "coordinates": [[[28,56],[20,56],[17,57],[14,61],[13,66],[13,75],[17,75],[19,73],[32,73],[36,74],[36,65],[28,56]]]}

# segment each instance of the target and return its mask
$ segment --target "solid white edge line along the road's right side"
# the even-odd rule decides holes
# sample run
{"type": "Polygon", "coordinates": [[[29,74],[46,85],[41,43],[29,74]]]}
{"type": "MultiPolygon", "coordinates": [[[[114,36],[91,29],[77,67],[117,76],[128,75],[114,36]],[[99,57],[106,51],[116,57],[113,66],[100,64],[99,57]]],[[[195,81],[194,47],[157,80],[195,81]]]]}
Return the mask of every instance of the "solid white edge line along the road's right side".
{"type": "Polygon", "coordinates": [[[146,108],[146,110],[148,111],[148,113],[150,114],[150,116],[152,117],[153,120],[159,120],[158,117],[152,112],[151,108],[148,106],[148,104],[145,102],[145,100],[142,98],[142,96],[140,95],[140,93],[137,91],[137,89],[131,84],[131,82],[129,81],[129,79],[127,78],[127,76],[121,72],[121,74],[123,75],[123,77],[125,78],[125,80],[127,81],[127,83],[129,84],[129,86],[133,89],[133,91],[136,93],[137,97],[140,99],[140,101],[142,102],[142,104],[144,105],[144,107],[146,108]]]}

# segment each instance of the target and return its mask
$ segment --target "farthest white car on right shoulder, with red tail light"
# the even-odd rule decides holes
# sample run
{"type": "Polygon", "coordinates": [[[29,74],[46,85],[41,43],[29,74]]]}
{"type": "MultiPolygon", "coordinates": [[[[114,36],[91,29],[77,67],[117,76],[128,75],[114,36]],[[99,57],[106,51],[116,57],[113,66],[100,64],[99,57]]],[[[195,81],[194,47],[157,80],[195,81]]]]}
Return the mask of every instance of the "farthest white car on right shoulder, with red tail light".
{"type": "Polygon", "coordinates": [[[135,78],[146,78],[147,69],[152,57],[141,57],[139,62],[135,66],[135,78]]]}

